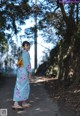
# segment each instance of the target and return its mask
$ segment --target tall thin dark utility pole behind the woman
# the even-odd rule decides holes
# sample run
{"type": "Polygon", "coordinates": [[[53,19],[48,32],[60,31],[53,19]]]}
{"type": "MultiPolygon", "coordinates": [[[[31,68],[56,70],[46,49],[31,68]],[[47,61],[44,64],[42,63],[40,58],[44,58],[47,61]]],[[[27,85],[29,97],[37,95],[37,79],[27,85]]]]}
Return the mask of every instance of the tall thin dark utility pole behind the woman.
{"type": "Polygon", "coordinates": [[[34,2],[34,68],[37,69],[37,0],[34,2]]]}

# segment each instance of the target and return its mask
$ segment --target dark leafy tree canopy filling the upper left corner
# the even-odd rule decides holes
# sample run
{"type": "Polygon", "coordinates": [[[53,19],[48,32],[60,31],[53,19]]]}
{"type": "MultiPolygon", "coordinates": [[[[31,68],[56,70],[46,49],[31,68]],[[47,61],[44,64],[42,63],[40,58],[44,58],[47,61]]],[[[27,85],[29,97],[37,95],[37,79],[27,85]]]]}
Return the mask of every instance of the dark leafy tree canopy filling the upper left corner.
{"type": "Polygon", "coordinates": [[[25,24],[29,18],[31,7],[28,0],[1,0],[0,2],[0,33],[11,38],[21,30],[19,25],[25,24]]]}

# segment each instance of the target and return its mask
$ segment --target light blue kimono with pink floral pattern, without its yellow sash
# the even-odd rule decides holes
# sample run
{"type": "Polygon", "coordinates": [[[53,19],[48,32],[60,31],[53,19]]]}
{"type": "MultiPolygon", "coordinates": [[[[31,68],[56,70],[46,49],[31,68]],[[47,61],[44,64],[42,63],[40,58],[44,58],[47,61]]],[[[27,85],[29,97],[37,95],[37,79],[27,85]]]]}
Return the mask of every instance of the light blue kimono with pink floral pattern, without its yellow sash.
{"type": "Polygon", "coordinates": [[[26,50],[22,51],[23,67],[18,67],[17,79],[14,88],[13,101],[25,101],[29,97],[30,85],[28,73],[31,72],[30,55],[26,50]]]}

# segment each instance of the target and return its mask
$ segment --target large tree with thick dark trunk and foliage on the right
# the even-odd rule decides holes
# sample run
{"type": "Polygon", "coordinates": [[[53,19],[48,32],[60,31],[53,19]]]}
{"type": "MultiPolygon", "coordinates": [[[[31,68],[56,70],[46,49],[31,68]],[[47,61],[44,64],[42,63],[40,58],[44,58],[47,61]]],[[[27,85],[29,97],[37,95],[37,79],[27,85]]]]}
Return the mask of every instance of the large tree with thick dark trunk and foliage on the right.
{"type": "MultiPolygon", "coordinates": [[[[45,37],[48,42],[55,41],[53,37],[53,29],[55,29],[58,38],[56,44],[58,49],[56,53],[54,51],[52,59],[56,55],[56,62],[59,66],[59,79],[66,79],[70,68],[73,68],[77,74],[76,66],[79,55],[76,58],[75,54],[79,51],[78,43],[80,43],[79,36],[77,36],[78,24],[80,22],[80,4],[60,4],[58,0],[46,0],[45,4],[41,7],[43,9],[43,17],[39,24],[44,35],[47,35],[45,37]]],[[[53,61],[53,66],[54,63],[53,61]]]]}

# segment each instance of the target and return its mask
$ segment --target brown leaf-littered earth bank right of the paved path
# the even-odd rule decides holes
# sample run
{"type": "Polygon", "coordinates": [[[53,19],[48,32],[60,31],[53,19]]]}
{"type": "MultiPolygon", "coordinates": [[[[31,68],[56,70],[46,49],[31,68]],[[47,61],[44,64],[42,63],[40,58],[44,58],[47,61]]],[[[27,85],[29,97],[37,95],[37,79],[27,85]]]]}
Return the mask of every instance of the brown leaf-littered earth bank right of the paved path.
{"type": "Polygon", "coordinates": [[[76,116],[80,116],[80,85],[66,85],[58,80],[49,80],[45,83],[45,88],[52,99],[65,104],[68,108],[76,111],[76,116]]]}

